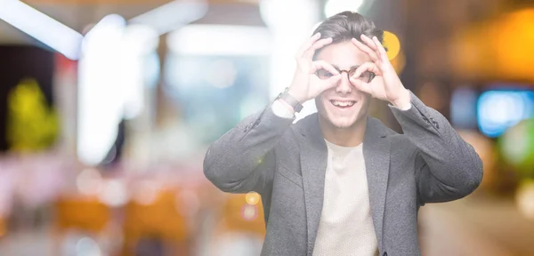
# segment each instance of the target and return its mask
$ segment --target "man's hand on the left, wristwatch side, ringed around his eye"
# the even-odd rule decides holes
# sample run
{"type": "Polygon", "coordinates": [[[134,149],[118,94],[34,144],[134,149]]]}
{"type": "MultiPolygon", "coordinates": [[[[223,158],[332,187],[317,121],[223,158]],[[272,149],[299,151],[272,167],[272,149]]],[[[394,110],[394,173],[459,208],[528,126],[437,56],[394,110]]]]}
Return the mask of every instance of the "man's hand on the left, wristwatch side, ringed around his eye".
{"type": "Polygon", "coordinates": [[[312,100],[321,92],[335,87],[341,78],[336,68],[328,62],[312,60],[315,51],[330,43],[332,43],[332,38],[320,39],[320,33],[317,33],[306,40],[296,53],[295,76],[293,76],[293,82],[289,86],[289,94],[299,102],[304,103],[307,100],[312,100]],[[326,69],[334,76],[328,79],[320,79],[315,76],[315,72],[321,68],[326,69]]]}

